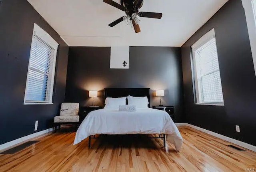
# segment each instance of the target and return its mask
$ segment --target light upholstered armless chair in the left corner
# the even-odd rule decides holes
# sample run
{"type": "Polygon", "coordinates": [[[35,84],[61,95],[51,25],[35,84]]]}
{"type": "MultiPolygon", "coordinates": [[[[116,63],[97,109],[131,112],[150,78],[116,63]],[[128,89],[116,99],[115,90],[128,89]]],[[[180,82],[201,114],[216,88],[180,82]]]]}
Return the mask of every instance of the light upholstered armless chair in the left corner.
{"type": "Polygon", "coordinates": [[[54,117],[54,132],[57,130],[59,125],[68,125],[74,124],[78,125],[79,123],[79,103],[62,103],[60,108],[60,116],[54,117]]]}

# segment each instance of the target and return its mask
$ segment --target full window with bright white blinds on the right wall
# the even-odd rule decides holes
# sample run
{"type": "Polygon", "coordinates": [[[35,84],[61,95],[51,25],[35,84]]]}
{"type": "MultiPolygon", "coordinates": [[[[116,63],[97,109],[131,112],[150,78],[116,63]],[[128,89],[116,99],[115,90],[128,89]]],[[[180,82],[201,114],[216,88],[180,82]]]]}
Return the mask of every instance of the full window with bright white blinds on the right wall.
{"type": "Polygon", "coordinates": [[[224,101],[214,29],[202,36],[192,46],[192,51],[196,103],[223,105],[224,101]]]}

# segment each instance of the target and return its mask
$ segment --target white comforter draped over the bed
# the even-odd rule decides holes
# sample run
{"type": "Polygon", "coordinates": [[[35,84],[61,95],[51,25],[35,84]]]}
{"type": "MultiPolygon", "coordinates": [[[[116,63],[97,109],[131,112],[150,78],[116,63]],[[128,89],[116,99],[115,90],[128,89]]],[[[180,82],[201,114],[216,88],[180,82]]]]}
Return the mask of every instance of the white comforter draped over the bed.
{"type": "Polygon", "coordinates": [[[182,136],[165,111],[145,108],[136,112],[100,109],[90,112],[76,132],[74,144],[95,134],[167,134],[166,140],[176,150],[182,146],[182,136]]]}

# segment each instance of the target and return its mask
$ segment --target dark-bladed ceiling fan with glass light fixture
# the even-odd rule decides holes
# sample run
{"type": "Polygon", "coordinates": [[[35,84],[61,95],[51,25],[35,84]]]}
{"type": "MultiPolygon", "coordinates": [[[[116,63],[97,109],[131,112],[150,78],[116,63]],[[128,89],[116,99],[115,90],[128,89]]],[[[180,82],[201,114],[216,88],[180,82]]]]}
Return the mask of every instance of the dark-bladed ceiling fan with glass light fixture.
{"type": "Polygon", "coordinates": [[[114,6],[126,13],[126,16],[123,16],[116,21],[110,23],[108,26],[113,27],[119,24],[122,21],[126,21],[133,25],[136,33],[140,32],[140,26],[138,16],[147,17],[147,18],[162,18],[162,13],[156,12],[139,12],[139,9],[142,7],[144,0],[121,0],[121,4],[118,4],[112,0],[103,0],[103,2],[114,6]]]}

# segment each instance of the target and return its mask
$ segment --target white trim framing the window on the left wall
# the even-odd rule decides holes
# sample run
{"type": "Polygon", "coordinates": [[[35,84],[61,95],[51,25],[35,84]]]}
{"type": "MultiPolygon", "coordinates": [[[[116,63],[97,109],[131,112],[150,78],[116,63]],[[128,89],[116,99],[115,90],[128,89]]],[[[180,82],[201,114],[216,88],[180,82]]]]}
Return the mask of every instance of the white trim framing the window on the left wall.
{"type": "MultiPolygon", "coordinates": [[[[54,77],[55,77],[55,67],[56,67],[56,57],[57,57],[57,50],[59,44],[47,33],[45,32],[42,28],[40,28],[37,24],[34,23],[34,29],[33,29],[33,34],[32,34],[32,39],[34,37],[34,34],[36,34],[40,39],[42,39],[44,42],[48,43],[50,46],[54,48],[54,60],[53,60],[53,67],[52,67],[52,84],[51,84],[51,92],[50,92],[50,101],[49,102],[44,102],[44,101],[32,101],[31,103],[26,102],[26,92],[27,88],[25,89],[25,95],[24,95],[24,105],[52,105],[52,97],[53,97],[53,87],[54,87],[54,77]]],[[[30,47],[30,57],[29,57],[29,62],[28,62],[28,71],[30,67],[30,58],[31,58],[31,51],[32,51],[32,40],[31,40],[31,47],[30,47]]],[[[27,79],[26,79],[26,84],[28,82],[28,74],[27,72],[27,79]]]]}

